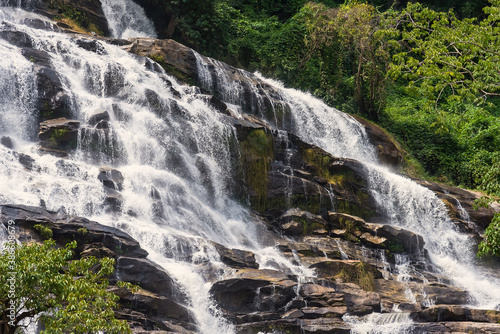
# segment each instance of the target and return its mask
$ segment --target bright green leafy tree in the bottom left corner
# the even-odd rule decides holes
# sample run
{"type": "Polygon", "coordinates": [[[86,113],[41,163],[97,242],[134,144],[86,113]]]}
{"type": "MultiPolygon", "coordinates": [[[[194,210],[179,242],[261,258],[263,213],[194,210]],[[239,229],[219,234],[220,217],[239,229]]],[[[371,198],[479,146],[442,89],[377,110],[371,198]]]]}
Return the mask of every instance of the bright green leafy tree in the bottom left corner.
{"type": "Polygon", "coordinates": [[[94,257],[70,261],[76,242],[55,248],[44,244],[10,243],[0,253],[0,311],[11,325],[3,333],[14,333],[19,322],[40,316],[43,333],[131,333],[125,321],[116,320],[113,309],[118,297],[106,289],[114,271],[114,259],[94,257]]]}

